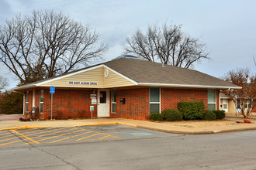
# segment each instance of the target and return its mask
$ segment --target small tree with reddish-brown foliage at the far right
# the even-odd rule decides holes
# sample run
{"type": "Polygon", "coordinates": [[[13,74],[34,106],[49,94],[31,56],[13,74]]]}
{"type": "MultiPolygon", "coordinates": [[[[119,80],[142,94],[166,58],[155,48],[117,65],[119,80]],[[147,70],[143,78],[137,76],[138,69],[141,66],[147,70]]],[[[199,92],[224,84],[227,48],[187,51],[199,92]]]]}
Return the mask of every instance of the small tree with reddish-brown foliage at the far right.
{"type": "Polygon", "coordinates": [[[224,76],[224,80],[242,87],[238,90],[225,90],[223,93],[232,99],[234,104],[237,104],[237,101],[240,102],[240,109],[237,109],[238,113],[247,118],[255,107],[256,73],[251,73],[249,69],[230,70],[224,76]],[[247,101],[249,101],[249,104],[246,104],[247,101]]]}

